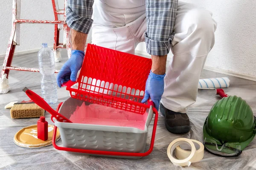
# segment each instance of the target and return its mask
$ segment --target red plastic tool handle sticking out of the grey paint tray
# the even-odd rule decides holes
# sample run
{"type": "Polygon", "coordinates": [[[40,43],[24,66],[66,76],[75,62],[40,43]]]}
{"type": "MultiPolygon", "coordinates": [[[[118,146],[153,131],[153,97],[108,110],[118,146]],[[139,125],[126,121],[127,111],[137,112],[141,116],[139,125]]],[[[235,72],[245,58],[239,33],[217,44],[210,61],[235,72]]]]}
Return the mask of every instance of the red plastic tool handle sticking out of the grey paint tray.
{"type": "Polygon", "coordinates": [[[48,103],[42,97],[40,97],[38,94],[36,94],[35,92],[29,90],[26,87],[23,89],[23,91],[26,93],[27,96],[29,96],[29,98],[31,100],[33,100],[33,102],[35,102],[35,104],[37,104],[39,107],[43,108],[44,110],[48,111],[59,122],[72,123],[69,119],[67,119],[66,117],[62,116],[60,113],[53,110],[51,108],[51,106],[49,106],[48,103]]]}

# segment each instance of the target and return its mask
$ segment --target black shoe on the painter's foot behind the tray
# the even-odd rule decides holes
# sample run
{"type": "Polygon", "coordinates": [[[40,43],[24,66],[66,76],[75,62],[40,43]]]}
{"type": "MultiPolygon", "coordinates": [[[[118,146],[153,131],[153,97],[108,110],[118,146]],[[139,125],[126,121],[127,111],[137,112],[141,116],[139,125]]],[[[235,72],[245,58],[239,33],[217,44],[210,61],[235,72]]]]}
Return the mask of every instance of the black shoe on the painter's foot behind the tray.
{"type": "Polygon", "coordinates": [[[172,133],[186,133],[190,130],[189,117],[186,113],[170,111],[160,103],[160,112],[165,116],[166,129],[172,133]]]}

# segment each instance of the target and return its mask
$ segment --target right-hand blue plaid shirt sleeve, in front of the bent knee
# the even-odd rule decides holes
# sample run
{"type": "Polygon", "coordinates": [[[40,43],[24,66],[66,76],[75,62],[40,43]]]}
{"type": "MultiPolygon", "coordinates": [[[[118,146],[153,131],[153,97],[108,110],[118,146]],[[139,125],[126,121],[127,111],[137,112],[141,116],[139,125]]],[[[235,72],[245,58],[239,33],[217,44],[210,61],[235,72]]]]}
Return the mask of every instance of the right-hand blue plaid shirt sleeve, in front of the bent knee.
{"type": "Polygon", "coordinates": [[[175,34],[177,3],[178,0],[146,0],[145,42],[148,54],[163,56],[169,53],[175,34]]]}

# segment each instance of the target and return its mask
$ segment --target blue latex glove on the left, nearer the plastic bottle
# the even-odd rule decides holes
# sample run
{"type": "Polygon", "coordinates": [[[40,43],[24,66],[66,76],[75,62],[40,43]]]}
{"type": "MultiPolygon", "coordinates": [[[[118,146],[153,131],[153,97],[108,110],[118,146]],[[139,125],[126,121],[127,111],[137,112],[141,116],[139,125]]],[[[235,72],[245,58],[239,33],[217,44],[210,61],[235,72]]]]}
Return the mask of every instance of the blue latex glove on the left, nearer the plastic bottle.
{"type": "Polygon", "coordinates": [[[70,59],[65,62],[57,75],[57,84],[61,88],[61,84],[69,80],[75,82],[78,71],[84,61],[84,51],[72,50],[70,59]]]}

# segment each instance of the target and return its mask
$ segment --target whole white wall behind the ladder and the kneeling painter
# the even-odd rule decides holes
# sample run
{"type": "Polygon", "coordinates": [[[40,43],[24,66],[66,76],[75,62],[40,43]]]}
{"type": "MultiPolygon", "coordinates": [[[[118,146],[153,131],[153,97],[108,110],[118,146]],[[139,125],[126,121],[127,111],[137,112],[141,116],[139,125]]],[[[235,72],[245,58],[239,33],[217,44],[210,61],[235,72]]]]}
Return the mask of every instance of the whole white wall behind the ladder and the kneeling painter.
{"type": "MultiPolygon", "coordinates": [[[[215,46],[207,58],[206,68],[256,78],[256,0],[184,1],[209,9],[218,23],[215,46]]],[[[63,0],[59,0],[61,2],[63,0]]],[[[21,4],[22,19],[54,19],[51,0],[22,0],[21,4]]],[[[0,21],[0,54],[4,54],[11,32],[12,0],[1,1],[0,21]]],[[[52,46],[53,34],[54,25],[21,24],[20,46],[15,51],[38,49],[42,42],[52,46]]],[[[145,43],[141,43],[137,50],[145,54],[145,43]]]]}

